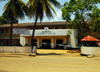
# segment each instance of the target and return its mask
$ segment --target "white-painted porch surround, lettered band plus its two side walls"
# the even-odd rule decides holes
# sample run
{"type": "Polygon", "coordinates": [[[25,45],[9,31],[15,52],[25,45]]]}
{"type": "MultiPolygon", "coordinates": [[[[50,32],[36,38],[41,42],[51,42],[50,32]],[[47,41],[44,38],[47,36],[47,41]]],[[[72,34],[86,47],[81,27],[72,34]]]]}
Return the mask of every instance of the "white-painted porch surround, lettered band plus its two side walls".
{"type": "MultiPolygon", "coordinates": [[[[70,35],[70,45],[76,47],[76,44],[78,43],[76,39],[77,31],[73,29],[40,29],[40,30],[35,30],[35,36],[67,36],[68,31],[71,31],[70,35]]],[[[32,30],[30,30],[30,35],[20,35],[20,42],[22,45],[25,45],[25,36],[31,36],[32,35],[32,30]]]]}

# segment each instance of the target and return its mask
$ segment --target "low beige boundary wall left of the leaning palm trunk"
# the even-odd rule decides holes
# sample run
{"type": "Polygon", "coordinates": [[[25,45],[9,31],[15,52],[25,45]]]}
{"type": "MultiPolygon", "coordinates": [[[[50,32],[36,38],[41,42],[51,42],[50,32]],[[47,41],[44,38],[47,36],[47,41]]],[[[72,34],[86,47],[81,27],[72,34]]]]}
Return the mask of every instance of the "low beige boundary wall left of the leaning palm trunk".
{"type": "Polygon", "coordinates": [[[31,53],[30,46],[0,46],[0,52],[6,53],[31,53]]]}

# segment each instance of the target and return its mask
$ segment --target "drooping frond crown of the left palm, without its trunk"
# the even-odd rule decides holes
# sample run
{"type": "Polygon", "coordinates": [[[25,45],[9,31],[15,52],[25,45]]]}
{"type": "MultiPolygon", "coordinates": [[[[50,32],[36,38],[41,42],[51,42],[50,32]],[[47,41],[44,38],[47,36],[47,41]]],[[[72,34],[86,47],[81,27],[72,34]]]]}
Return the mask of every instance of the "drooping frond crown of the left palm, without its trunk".
{"type": "Polygon", "coordinates": [[[27,6],[22,0],[11,0],[5,5],[3,15],[11,18],[11,14],[13,14],[13,18],[24,19],[25,14],[27,13],[27,6]]]}

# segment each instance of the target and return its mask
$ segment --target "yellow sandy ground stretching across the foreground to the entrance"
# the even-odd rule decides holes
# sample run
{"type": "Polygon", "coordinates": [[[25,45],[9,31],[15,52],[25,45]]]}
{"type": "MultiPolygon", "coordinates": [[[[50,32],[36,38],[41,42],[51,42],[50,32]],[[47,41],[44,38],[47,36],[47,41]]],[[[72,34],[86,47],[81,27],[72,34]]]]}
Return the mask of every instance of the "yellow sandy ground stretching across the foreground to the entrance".
{"type": "Polygon", "coordinates": [[[80,56],[78,51],[38,49],[39,55],[0,53],[0,72],[100,72],[100,55],[80,56]]]}

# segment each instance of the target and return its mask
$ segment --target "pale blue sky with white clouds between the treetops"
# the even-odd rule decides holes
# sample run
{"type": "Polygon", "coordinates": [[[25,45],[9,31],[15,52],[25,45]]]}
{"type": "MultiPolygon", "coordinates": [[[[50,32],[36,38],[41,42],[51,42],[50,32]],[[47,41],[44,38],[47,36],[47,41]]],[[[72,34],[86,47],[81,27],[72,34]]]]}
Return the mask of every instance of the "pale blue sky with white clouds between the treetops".
{"type": "MultiPolygon", "coordinates": [[[[28,0],[23,0],[23,1],[26,3],[28,0]]],[[[63,5],[65,2],[69,2],[69,0],[58,0],[58,1],[61,3],[61,5],[63,5]]],[[[7,2],[8,1],[1,1],[0,2],[0,16],[2,15],[3,7],[7,2]]],[[[44,16],[42,22],[64,21],[64,20],[62,20],[61,9],[57,9],[55,7],[54,7],[54,9],[55,9],[57,15],[54,15],[54,18],[52,18],[52,19],[48,19],[46,16],[44,16]]],[[[31,22],[34,22],[34,21],[35,21],[35,19],[33,19],[33,18],[29,19],[27,16],[25,16],[25,19],[24,20],[19,19],[18,23],[31,23],[31,22]]],[[[38,20],[38,22],[39,22],[39,20],[38,20]]]]}

